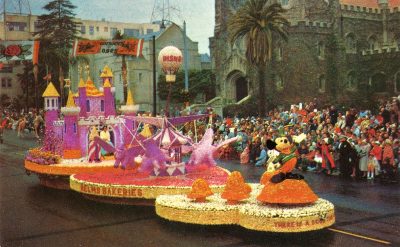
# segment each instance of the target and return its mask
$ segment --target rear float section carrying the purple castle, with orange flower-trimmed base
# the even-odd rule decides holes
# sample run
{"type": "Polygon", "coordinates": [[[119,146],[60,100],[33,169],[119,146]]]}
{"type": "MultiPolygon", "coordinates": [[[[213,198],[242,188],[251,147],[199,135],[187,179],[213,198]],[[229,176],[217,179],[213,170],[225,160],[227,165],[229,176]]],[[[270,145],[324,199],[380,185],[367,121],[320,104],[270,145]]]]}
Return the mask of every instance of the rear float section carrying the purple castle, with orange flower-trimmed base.
{"type": "Polygon", "coordinates": [[[138,145],[145,139],[137,133],[136,123],[127,120],[135,116],[138,106],[133,104],[131,92],[123,116],[117,116],[114,105],[113,74],[106,65],[101,74],[103,87],[98,90],[90,77],[80,79],[78,92],[70,91],[66,107],[60,109],[60,95],[52,82],[43,98],[46,111],[46,131],[43,146],[29,150],[25,159],[27,174],[34,174],[40,183],[58,189],[70,189],[69,177],[75,173],[115,172],[113,155],[102,155],[94,141],[102,130],[110,133],[109,142],[117,147],[138,145]],[[123,138],[126,137],[126,138],[123,138]],[[129,137],[129,138],[128,138],[129,137]]]}

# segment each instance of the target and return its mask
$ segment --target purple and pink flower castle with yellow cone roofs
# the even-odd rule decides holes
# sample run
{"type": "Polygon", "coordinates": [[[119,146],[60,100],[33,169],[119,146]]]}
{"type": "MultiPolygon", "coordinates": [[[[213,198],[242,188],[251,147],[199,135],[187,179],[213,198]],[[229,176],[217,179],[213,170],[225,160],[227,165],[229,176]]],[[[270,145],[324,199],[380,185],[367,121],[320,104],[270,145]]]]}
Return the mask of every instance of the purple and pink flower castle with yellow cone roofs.
{"type": "MultiPolygon", "coordinates": [[[[80,79],[78,92],[68,95],[67,105],[61,108],[63,120],[58,119],[59,94],[52,82],[49,83],[43,97],[45,98],[46,131],[53,130],[63,140],[63,159],[79,159],[88,156],[89,135],[92,128],[98,132],[107,126],[111,142],[114,146],[133,146],[133,133],[136,132],[136,123],[116,116],[115,87],[113,74],[106,65],[101,74],[103,87],[98,90],[88,77],[86,83],[80,79]]],[[[129,91],[127,105],[122,106],[126,116],[135,116],[138,106],[133,104],[132,94],[129,91]]]]}

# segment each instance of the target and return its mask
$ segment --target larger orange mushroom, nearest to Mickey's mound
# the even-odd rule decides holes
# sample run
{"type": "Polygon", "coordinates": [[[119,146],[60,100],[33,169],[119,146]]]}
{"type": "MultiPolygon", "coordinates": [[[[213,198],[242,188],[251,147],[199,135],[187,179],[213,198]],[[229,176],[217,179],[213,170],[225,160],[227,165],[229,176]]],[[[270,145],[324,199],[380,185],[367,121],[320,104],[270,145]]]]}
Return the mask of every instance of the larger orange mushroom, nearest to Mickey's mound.
{"type": "Polygon", "coordinates": [[[236,205],[241,199],[249,198],[251,192],[250,185],[244,183],[244,178],[239,171],[234,171],[226,181],[225,190],[221,198],[227,199],[229,205],[236,205]]]}

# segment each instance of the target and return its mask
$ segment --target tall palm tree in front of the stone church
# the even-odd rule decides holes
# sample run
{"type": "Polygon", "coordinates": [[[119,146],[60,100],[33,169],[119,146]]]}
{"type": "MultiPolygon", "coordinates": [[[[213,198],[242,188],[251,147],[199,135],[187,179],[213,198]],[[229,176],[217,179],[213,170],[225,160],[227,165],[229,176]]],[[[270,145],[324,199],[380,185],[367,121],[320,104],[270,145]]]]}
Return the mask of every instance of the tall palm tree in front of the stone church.
{"type": "Polygon", "coordinates": [[[265,66],[271,59],[273,33],[288,41],[289,21],[283,16],[280,3],[268,4],[268,0],[246,0],[228,24],[227,39],[231,45],[238,38],[246,38],[246,59],[258,70],[259,116],[266,114],[265,66]]]}

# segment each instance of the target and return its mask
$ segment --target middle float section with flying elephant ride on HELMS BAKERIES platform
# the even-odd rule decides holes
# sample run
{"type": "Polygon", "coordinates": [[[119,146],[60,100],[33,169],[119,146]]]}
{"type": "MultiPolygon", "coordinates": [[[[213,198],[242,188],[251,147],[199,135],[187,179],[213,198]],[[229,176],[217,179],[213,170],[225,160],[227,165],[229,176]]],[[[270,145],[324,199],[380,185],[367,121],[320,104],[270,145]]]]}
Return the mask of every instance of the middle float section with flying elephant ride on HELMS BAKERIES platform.
{"type": "MultiPolygon", "coordinates": [[[[119,169],[118,172],[74,174],[70,177],[71,189],[92,200],[133,205],[154,205],[161,194],[187,194],[198,178],[205,179],[213,192],[222,192],[229,171],[216,166],[213,157],[220,147],[237,138],[212,145],[213,130],[208,129],[199,143],[192,143],[173,129],[173,126],[205,116],[209,114],[175,118],[132,117],[137,122],[162,127],[158,134],[144,140],[142,147],[122,151],[128,151],[131,157],[136,156],[140,160],[139,167],[121,170],[129,165],[121,162],[120,166],[116,162],[114,167],[119,169]],[[183,162],[182,154],[189,151],[192,152],[190,160],[183,162]]],[[[107,146],[107,143],[95,139],[102,147],[107,146]]]]}

